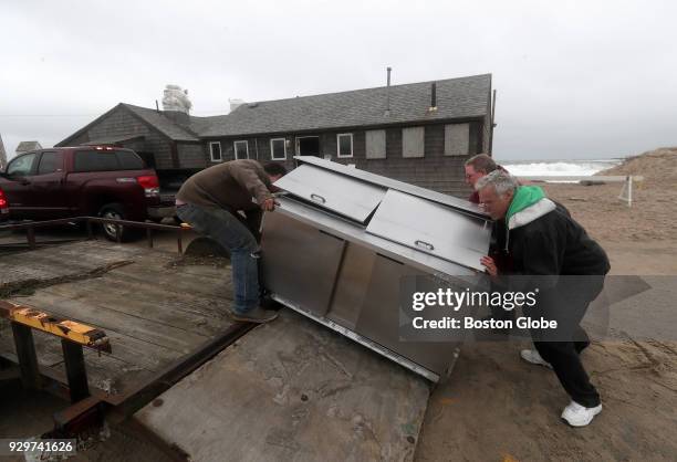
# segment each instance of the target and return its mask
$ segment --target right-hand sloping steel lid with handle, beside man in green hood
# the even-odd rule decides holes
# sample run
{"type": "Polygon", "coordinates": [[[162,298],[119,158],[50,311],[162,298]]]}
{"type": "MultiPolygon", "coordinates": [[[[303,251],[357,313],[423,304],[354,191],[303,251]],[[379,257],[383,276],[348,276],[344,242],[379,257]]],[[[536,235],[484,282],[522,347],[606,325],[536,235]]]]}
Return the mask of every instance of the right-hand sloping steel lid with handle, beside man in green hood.
{"type": "Polygon", "coordinates": [[[483,271],[490,222],[389,189],[366,231],[420,252],[483,271]]]}

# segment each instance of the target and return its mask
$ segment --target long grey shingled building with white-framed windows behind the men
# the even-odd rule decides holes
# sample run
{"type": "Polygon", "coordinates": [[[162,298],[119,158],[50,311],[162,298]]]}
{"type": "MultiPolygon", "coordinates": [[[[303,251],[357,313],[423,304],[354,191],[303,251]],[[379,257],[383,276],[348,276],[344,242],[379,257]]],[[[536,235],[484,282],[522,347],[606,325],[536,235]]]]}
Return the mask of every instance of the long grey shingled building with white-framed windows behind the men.
{"type": "Polygon", "coordinates": [[[313,155],[440,192],[465,196],[462,164],[490,151],[491,75],[246,103],[196,117],[121,103],[58,146],[139,153],[171,188],[236,158],[313,155]]]}

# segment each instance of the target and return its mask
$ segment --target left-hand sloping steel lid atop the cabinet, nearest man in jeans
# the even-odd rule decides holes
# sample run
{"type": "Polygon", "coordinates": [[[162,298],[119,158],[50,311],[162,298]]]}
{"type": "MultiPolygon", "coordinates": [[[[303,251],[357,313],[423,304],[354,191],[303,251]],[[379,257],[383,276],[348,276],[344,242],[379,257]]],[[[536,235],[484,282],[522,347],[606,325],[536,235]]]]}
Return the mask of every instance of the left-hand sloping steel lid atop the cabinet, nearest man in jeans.
{"type": "Polygon", "coordinates": [[[366,222],[386,189],[311,165],[301,165],[275,186],[323,209],[366,222]]]}

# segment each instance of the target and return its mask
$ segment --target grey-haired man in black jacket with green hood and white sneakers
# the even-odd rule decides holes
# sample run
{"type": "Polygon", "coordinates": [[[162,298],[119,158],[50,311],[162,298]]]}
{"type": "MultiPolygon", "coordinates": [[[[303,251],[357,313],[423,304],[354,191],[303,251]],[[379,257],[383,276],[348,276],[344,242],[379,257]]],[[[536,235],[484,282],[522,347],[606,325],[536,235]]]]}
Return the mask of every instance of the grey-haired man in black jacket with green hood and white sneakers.
{"type": "Polygon", "coordinates": [[[515,178],[497,170],[479,179],[476,189],[486,212],[506,228],[498,242],[502,258],[481,259],[487,273],[499,284],[510,281],[522,290],[538,285],[535,308],[560,321],[556,333],[532,329],[535,350],[520,355],[554,370],[572,399],[562,418],[572,427],[584,427],[602,411],[602,403],[581,363],[580,354],[590,340],[579,323],[603,288],[610,270],[606,253],[539,187],[519,186],[515,178]],[[501,280],[502,275],[511,277],[501,280]]]}

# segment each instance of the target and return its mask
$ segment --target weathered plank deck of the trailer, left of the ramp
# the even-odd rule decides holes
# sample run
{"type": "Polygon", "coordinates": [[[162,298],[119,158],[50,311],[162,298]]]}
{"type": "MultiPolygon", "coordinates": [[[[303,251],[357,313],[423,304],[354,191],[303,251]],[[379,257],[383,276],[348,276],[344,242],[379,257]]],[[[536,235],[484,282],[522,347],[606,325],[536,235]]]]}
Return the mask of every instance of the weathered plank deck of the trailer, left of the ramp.
{"type": "MultiPolygon", "coordinates": [[[[124,395],[232,325],[230,269],[176,262],[102,241],[43,248],[0,256],[0,293],[105,330],[112,355],[85,348],[90,386],[124,395]]],[[[8,327],[0,325],[0,355],[13,360],[8,327]]],[[[39,364],[63,372],[60,340],[33,336],[39,364]]]]}

